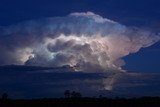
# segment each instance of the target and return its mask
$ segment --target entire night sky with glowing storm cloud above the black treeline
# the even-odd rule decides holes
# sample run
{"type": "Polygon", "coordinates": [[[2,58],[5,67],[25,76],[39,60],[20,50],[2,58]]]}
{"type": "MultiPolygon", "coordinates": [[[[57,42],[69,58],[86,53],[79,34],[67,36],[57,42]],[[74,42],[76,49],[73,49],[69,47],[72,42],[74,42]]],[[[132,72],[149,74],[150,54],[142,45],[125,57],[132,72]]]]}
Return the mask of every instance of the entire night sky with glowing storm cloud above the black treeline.
{"type": "MultiPolygon", "coordinates": [[[[159,0],[0,0],[0,94],[6,92],[12,98],[62,97],[63,92],[70,89],[83,92],[86,96],[160,96],[159,37],[159,0]],[[93,29],[89,29],[88,23],[93,29]],[[61,29],[59,26],[65,27],[61,29]],[[51,34],[56,36],[50,36],[50,29],[53,30],[51,34]],[[102,53],[97,52],[97,56],[92,56],[90,48],[97,48],[92,44],[82,45],[79,41],[96,42],[95,45],[98,46],[99,42],[94,38],[91,38],[91,41],[86,38],[99,32],[102,37],[105,33],[116,35],[106,39],[107,42],[113,42],[106,47],[103,47],[105,39],[97,39],[103,43],[104,50],[110,46],[112,50],[111,53],[102,50],[102,53]],[[58,37],[61,33],[67,36],[58,37]],[[87,37],[79,40],[81,34],[86,34],[87,37]],[[44,47],[43,39],[46,35],[50,40],[47,38],[49,42],[46,40],[48,44],[44,47]],[[116,47],[113,48],[112,45],[116,47]],[[32,53],[32,46],[36,58],[33,54],[27,56],[32,53]],[[128,51],[116,51],[123,46],[124,50],[128,51]],[[45,49],[51,53],[62,53],[49,54],[45,49]],[[80,63],[76,64],[76,67],[87,72],[77,73],[73,72],[74,68],[66,67],[68,60],[72,59],[70,52],[74,61],[78,60],[80,63]],[[31,69],[19,66],[23,62],[18,59],[22,54],[28,58],[26,60],[26,57],[22,56],[24,64],[31,66],[31,69]],[[84,55],[84,59],[76,58],[78,54],[84,55]],[[105,57],[104,54],[108,56],[105,57]],[[95,58],[98,56],[102,61],[100,64],[95,63],[95,60],[99,60],[95,58]],[[50,61],[49,58],[54,60],[50,61]],[[103,63],[105,58],[109,62],[103,63]],[[88,62],[84,63],[83,60],[88,62]],[[115,66],[113,63],[116,63],[115,66]],[[40,68],[35,69],[34,66],[40,68]],[[106,71],[106,68],[111,72],[97,72],[106,71]],[[90,74],[92,71],[96,73],[90,74]]],[[[74,61],[71,60],[69,64],[74,65],[74,61]]]]}

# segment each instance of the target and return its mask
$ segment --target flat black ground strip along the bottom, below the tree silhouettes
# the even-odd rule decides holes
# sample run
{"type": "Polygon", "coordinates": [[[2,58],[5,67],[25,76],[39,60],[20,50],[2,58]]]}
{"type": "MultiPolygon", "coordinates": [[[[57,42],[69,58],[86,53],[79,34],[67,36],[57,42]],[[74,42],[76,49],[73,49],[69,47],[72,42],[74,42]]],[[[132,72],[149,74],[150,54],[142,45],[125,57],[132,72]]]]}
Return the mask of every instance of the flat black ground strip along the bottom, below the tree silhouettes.
{"type": "Polygon", "coordinates": [[[160,107],[159,97],[0,100],[0,107],[160,107]]]}

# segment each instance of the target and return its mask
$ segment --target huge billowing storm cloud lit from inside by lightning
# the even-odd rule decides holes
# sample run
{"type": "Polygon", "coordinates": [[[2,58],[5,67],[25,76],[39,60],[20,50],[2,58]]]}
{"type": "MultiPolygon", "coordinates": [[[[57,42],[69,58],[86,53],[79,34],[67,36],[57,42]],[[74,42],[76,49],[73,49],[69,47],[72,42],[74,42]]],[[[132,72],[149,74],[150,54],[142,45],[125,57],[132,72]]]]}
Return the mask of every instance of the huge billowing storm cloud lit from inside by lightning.
{"type": "Polygon", "coordinates": [[[123,57],[159,39],[150,31],[128,28],[92,12],[71,13],[2,27],[0,64],[121,70],[123,57]]]}

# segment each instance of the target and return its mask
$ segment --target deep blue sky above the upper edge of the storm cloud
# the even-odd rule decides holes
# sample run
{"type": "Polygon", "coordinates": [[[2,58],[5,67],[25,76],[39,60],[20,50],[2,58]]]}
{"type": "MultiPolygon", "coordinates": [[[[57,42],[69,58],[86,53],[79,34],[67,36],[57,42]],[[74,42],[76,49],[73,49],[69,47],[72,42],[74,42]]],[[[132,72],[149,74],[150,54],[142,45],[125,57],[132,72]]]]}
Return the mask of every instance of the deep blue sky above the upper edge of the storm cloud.
{"type": "Polygon", "coordinates": [[[159,9],[159,0],[1,0],[0,23],[7,25],[29,19],[65,16],[75,11],[93,11],[124,24],[143,25],[158,21],[159,9]]]}

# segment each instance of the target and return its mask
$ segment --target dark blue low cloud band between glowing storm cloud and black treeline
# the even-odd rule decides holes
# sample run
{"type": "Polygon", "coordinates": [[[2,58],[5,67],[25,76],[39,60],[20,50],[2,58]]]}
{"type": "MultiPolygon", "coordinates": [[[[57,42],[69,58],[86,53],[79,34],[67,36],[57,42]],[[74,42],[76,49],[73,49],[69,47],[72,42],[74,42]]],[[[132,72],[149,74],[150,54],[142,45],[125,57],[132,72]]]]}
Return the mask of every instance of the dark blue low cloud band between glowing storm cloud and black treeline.
{"type": "Polygon", "coordinates": [[[154,73],[82,73],[68,72],[66,68],[42,70],[18,66],[10,69],[13,67],[0,67],[0,94],[6,92],[10,98],[63,97],[65,90],[90,97],[160,95],[160,75],[154,73]]]}

